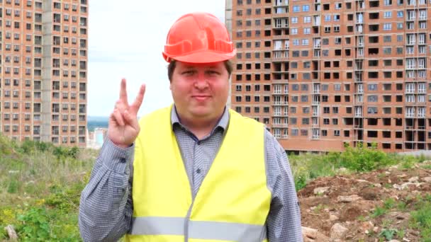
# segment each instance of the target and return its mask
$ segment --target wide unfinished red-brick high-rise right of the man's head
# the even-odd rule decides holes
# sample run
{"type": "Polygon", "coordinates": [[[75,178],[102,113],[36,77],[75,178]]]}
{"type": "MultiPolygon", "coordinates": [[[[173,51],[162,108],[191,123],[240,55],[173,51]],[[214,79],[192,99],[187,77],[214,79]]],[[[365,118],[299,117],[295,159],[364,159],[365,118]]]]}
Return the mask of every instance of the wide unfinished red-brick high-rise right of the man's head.
{"type": "Polygon", "coordinates": [[[431,149],[431,1],[227,0],[230,106],[289,151],[431,149]]]}

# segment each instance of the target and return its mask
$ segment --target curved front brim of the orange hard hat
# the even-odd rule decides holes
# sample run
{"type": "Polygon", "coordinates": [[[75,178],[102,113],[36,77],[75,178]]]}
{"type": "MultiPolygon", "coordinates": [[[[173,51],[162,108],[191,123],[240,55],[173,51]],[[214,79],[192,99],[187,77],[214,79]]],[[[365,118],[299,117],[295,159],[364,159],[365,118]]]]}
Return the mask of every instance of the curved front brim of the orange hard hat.
{"type": "Polygon", "coordinates": [[[179,62],[187,63],[214,63],[214,62],[224,62],[225,60],[232,59],[235,57],[236,50],[230,53],[220,53],[220,52],[193,52],[191,54],[181,55],[181,56],[169,56],[165,52],[162,52],[164,60],[171,62],[172,59],[179,62]]]}

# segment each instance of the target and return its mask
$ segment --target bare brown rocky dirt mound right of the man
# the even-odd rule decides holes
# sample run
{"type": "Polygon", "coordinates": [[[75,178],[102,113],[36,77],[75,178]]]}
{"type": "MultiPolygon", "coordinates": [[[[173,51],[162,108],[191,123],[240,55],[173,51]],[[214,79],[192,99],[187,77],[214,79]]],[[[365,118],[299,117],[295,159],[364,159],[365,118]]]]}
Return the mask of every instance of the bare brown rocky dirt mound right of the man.
{"type": "Polygon", "coordinates": [[[417,195],[431,194],[430,167],[427,161],[410,169],[394,166],[313,180],[298,192],[302,225],[312,229],[305,241],[386,241],[385,230],[395,229],[393,239],[421,241],[420,231],[409,228],[409,204],[417,195]],[[376,216],[376,207],[388,201],[393,206],[376,216]]]}

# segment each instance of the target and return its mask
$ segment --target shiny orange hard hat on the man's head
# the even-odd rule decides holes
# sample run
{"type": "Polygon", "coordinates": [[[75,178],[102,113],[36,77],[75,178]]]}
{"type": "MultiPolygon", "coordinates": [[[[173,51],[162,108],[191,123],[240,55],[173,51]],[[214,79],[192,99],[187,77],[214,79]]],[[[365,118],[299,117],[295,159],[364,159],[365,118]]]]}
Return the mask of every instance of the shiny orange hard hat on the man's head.
{"type": "Polygon", "coordinates": [[[167,34],[163,57],[189,63],[223,62],[235,56],[225,25],[210,13],[181,16],[167,34]]]}

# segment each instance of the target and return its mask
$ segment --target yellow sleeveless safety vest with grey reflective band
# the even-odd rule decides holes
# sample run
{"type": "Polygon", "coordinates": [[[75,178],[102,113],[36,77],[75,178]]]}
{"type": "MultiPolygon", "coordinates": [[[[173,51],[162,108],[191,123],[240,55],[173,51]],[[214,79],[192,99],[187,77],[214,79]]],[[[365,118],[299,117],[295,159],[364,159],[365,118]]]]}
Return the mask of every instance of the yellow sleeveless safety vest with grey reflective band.
{"type": "Polygon", "coordinates": [[[170,108],[140,120],[128,241],[267,241],[264,127],[230,112],[227,132],[196,197],[172,131],[170,108]]]}

